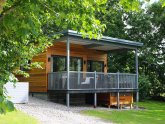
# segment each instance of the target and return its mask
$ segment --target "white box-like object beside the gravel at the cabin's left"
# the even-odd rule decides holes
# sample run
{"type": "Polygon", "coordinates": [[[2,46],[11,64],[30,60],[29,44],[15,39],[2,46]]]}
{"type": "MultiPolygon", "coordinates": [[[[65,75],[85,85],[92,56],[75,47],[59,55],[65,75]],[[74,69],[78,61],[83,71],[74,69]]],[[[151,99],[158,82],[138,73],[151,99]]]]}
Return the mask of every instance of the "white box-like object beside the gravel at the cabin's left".
{"type": "Polygon", "coordinates": [[[4,86],[7,90],[7,96],[13,103],[28,103],[29,100],[29,83],[18,82],[13,86],[13,83],[7,83],[4,86]]]}

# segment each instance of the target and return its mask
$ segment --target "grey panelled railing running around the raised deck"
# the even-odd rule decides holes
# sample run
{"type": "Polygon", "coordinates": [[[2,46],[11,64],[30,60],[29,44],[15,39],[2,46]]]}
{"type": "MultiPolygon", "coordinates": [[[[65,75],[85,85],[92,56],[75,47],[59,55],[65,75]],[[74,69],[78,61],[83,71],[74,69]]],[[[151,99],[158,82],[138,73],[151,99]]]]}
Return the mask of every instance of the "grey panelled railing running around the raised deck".
{"type": "MultiPolygon", "coordinates": [[[[136,74],[102,73],[102,72],[69,72],[70,90],[93,89],[136,89],[136,74]]],[[[67,72],[48,74],[48,90],[66,90],[67,72]]]]}

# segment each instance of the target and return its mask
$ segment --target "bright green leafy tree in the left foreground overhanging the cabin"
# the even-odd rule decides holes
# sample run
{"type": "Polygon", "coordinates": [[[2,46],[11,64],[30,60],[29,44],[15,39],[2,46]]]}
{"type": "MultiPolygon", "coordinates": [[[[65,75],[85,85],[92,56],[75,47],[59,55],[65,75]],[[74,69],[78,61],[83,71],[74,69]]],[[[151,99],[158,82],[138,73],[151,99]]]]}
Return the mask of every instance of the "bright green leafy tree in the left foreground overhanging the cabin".
{"type": "Polygon", "coordinates": [[[29,64],[58,38],[57,31],[75,29],[97,37],[104,25],[95,12],[104,9],[105,0],[1,0],[0,1],[0,113],[12,111],[13,104],[5,96],[4,84],[16,81],[18,70],[41,67],[29,64]],[[3,5],[3,8],[2,8],[3,5]],[[93,35],[94,34],[94,35],[93,35]]]}

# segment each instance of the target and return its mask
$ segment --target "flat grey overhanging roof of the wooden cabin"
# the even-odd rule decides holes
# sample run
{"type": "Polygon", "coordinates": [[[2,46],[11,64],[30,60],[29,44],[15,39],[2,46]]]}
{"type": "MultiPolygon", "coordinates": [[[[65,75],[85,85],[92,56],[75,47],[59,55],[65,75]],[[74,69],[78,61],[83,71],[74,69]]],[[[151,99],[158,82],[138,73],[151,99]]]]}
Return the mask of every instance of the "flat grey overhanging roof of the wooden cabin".
{"type": "Polygon", "coordinates": [[[71,43],[84,45],[90,49],[97,49],[97,50],[116,50],[116,49],[136,49],[138,47],[143,46],[143,43],[118,39],[108,36],[102,36],[100,39],[90,39],[88,35],[83,37],[83,35],[77,31],[73,30],[66,30],[60,32],[64,36],[69,36],[71,39],[71,43]]]}

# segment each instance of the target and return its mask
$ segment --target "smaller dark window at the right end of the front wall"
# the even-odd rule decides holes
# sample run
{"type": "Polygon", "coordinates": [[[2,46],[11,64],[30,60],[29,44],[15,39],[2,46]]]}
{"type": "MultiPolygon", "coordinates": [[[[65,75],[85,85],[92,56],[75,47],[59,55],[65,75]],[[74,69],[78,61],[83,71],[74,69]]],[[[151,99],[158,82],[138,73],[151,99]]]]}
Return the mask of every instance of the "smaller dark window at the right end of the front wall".
{"type": "Polygon", "coordinates": [[[88,60],[87,71],[89,71],[89,72],[93,72],[93,71],[104,72],[104,62],[103,61],[88,60]]]}

